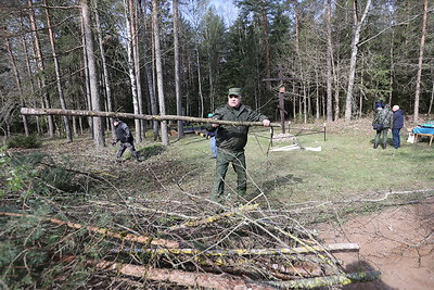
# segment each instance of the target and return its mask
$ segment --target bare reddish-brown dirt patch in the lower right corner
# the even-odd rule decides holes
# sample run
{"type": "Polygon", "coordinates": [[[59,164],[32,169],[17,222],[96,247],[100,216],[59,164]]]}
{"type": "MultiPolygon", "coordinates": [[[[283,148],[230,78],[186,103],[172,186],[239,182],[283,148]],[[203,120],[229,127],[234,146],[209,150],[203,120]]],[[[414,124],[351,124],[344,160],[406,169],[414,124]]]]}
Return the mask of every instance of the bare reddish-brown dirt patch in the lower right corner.
{"type": "Polygon", "coordinates": [[[358,216],[320,230],[328,243],[353,242],[359,253],[339,253],[347,273],[380,270],[381,280],[344,289],[434,289],[434,198],[358,216]]]}

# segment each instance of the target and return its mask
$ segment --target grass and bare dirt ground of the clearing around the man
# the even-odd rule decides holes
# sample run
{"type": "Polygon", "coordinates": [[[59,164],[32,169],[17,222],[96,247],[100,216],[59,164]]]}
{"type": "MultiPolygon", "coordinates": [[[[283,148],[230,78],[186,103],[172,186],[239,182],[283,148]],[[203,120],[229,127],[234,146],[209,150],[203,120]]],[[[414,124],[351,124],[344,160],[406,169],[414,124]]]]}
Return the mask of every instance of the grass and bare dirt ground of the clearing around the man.
{"type": "MultiPolygon", "coordinates": [[[[252,196],[264,193],[258,199],[264,207],[261,213],[270,218],[276,212],[288,213],[289,220],[296,219],[302,227],[317,232],[322,244],[358,243],[358,253],[334,256],[342,260],[346,272],[380,270],[382,278],[344,289],[432,288],[434,148],[426,140],[406,143],[407,130],[403,129],[401,149],[373,150],[370,119],[335,122],[327,128],[327,141],[321,133],[305,135],[296,129],[301,127],[304,126],[295,124],[292,128],[292,133],[299,134],[297,141],[304,147],[321,148],[320,152],[268,153],[268,133],[254,129],[250,136],[248,188],[252,196]]],[[[308,127],[322,129],[321,124],[308,127]]],[[[136,163],[128,152],[123,162],[116,162],[116,148],[95,149],[88,137],[73,143],[46,140],[41,149],[10,152],[43,152],[53,164],[78,174],[75,181],[79,180],[79,191],[86,192],[86,200],[78,197],[68,201],[61,194],[63,200],[59,201],[60,197],[55,197],[55,204],[71,202],[68,206],[54,206],[63,209],[56,210],[58,214],[92,223],[108,218],[112,226],[146,232],[151,229],[150,220],[161,217],[153,214],[143,222],[144,210],[175,214],[164,223],[177,223],[184,215],[206,216],[215,211],[215,204],[207,200],[214,175],[209,141],[188,135],[182,140],[171,138],[170,142],[166,149],[152,141],[137,143],[142,163],[136,163]],[[73,204],[76,202],[79,204],[73,204]],[[126,213],[132,216],[127,218],[126,213]],[[135,225],[135,220],[140,225],[135,225]]],[[[227,191],[232,190],[234,182],[230,168],[227,191]]],[[[230,204],[224,209],[230,211],[230,204]]]]}

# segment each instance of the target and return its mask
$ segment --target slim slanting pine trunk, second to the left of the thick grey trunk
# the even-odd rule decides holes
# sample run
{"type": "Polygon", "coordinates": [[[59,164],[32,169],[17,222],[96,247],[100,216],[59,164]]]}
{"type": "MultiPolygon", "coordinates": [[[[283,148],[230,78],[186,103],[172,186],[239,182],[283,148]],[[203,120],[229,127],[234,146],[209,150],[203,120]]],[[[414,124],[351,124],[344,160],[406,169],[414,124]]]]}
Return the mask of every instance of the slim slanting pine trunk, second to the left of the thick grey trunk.
{"type": "MultiPolygon", "coordinates": [[[[39,36],[38,36],[38,28],[36,26],[36,20],[35,20],[35,12],[33,9],[33,0],[27,0],[27,7],[29,10],[29,21],[30,21],[30,27],[31,27],[31,33],[34,37],[34,42],[35,42],[35,51],[36,51],[36,56],[38,59],[38,71],[41,73],[39,74],[39,86],[42,91],[42,99],[43,99],[43,105],[48,109],[51,108],[51,101],[50,101],[50,96],[47,91],[46,88],[46,79],[41,76],[42,72],[46,70],[44,64],[43,64],[43,56],[42,56],[42,49],[40,47],[40,41],[39,41],[39,36]]],[[[47,116],[48,117],[48,134],[50,138],[54,137],[54,122],[52,116],[47,116]]]]}

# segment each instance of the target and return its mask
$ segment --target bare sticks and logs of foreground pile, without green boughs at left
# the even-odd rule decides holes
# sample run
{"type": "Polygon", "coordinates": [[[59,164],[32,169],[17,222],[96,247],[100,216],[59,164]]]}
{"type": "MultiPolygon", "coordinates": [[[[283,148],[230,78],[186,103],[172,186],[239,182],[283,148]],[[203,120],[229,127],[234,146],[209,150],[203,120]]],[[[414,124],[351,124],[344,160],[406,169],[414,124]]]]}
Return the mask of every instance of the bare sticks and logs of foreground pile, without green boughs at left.
{"type": "Polygon", "coordinates": [[[114,228],[122,227],[122,231],[90,226],[92,222],[84,219],[73,223],[24,213],[0,215],[33,217],[58,228],[86,231],[99,241],[93,248],[102,247],[104,241],[104,253],[100,249],[99,255],[92,257],[82,253],[63,255],[62,261],[79,257],[98,275],[124,277],[148,288],[305,289],[380,277],[379,272],[345,273],[333,253],[358,251],[358,245],[323,245],[315,232],[288,213],[251,202],[221,207],[221,213],[216,214],[215,209],[207,210],[208,201],[202,202],[167,201],[168,209],[162,201],[131,199],[123,205],[87,201],[86,211],[93,206],[93,211],[98,207],[122,213],[124,220],[112,224],[114,228]],[[125,219],[136,226],[120,225],[125,219]]]}

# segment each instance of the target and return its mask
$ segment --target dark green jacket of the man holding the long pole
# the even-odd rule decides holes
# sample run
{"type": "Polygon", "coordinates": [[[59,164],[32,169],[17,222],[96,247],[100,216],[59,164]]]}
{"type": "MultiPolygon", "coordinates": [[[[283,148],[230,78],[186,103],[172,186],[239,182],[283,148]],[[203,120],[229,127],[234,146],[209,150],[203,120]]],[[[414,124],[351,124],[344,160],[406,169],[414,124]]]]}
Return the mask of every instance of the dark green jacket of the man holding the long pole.
{"type": "MultiPolygon", "coordinates": [[[[266,115],[257,113],[243,104],[237,109],[226,104],[214,112],[213,118],[238,122],[261,122],[268,119],[266,115]]],[[[248,126],[220,125],[217,128],[216,141],[218,148],[235,152],[244,150],[247,143],[248,126]]],[[[207,130],[215,131],[217,128],[209,125],[207,130]]]]}

